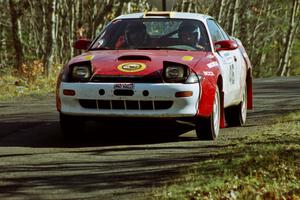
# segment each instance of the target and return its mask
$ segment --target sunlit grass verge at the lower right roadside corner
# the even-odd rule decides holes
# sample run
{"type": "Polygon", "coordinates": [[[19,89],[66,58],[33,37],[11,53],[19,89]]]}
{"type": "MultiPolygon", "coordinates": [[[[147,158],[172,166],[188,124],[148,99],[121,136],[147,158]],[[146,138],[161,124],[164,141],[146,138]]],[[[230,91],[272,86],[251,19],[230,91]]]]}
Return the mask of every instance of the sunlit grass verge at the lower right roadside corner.
{"type": "Polygon", "coordinates": [[[300,112],[274,120],[200,161],[152,199],[300,199],[300,112]]]}

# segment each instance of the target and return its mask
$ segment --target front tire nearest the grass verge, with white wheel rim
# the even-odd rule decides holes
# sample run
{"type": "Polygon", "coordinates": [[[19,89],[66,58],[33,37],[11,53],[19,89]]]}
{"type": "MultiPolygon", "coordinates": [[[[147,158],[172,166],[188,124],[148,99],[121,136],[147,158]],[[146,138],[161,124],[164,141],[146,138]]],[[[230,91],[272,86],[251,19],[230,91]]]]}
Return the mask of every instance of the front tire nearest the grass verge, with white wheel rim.
{"type": "Polygon", "coordinates": [[[216,89],[213,112],[208,118],[199,118],[196,122],[196,134],[199,140],[215,140],[219,135],[221,119],[220,91],[216,89]]]}

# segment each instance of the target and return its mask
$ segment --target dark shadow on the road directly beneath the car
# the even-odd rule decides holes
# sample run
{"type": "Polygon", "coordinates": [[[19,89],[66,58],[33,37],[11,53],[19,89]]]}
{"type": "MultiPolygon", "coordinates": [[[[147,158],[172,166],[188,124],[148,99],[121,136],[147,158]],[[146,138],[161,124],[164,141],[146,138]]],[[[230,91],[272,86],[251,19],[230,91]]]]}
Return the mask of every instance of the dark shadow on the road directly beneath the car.
{"type": "Polygon", "coordinates": [[[195,137],[178,137],[193,130],[193,126],[174,122],[87,122],[86,127],[78,138],[65,139],[58,121],[1,122],[0,146],[72,148],[196,140],[195,137]]]}

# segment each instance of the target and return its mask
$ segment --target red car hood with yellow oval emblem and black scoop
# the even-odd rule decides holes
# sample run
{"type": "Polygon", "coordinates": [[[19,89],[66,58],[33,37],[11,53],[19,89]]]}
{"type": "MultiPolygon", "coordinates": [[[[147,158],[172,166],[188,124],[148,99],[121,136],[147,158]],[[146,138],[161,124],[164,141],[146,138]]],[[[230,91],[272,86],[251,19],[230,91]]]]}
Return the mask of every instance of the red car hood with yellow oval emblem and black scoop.
{"type": "Polygon", "coordinates": [[[144,76],[162,71],[164,62],[194,68],[208,53],[177,50],[101,50],[88,51],[73,58],[69,65],[90,61],[94,75],[144,76]],[[136,64],[140,67],[136,67],[136,64]],[[131,69],[131,67],[135,69],[131,69]],[[142,66],[142,67],[141,67],[142,66]]]}

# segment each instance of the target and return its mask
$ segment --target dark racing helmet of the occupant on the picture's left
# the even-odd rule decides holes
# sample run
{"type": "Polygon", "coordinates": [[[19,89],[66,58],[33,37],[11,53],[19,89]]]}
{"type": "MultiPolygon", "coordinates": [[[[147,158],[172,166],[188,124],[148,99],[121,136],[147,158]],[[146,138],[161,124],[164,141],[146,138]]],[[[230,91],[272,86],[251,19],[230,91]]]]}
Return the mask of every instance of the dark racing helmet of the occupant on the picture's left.
{"type": "Polygon", "coordinates": [[[125,40],[130,46],[139,46],[147,39],[146,26],[139,21],[131,22],[125,30],[125,40]]]}

